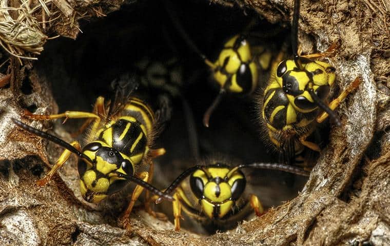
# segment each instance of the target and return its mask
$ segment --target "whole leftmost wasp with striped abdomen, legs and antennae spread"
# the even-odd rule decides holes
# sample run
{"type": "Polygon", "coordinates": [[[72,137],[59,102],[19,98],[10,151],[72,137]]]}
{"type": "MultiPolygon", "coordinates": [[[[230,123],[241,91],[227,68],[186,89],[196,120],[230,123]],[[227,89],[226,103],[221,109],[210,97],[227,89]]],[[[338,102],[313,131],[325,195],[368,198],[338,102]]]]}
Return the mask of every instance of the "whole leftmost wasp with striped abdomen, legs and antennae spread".
{"type": "Polygon", "coordinates": [[[154,134],[154,113],[142,100],[130,96],[137,85],[135,78],[125,80],[127,81],[115,81],[116,93],[110,103],[105,104],[103,97],[97,98],[92,113],[66,111],[62,114],[34,115],[26,111],[27,117],[38,120],[87,118],[82,130],[87,126],[90,126],[90,129],[85,139],[87,144],[83,148],[77,141],[68,144],[19,120],[13,119],[13,122],[24,130],[66,149],[45,178],[37,181],[38,185],[46,185],[71,153],[79,157],[77,168],[80,191],[88,202],[100,202],[121,191],[129,181],[135,182],[137,186],[124,214],[124,225],[128,227],[128,216],[144,188],[164,199],[173,198],[149,184],[151,173],[136,173],[142,162],[164,154],[165,150],[149,149],[154,134]]]}

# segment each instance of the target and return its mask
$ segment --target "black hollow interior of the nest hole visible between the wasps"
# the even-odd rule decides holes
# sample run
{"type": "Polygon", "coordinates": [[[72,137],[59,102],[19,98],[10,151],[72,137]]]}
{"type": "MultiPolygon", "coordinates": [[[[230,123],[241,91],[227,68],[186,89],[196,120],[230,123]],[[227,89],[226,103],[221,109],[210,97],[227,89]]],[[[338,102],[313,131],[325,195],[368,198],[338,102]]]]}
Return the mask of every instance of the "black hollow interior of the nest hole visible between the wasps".
{"type": "MultiPolygon", "coordinates": [[[[268,35],[269,43],[280,43],[283,35],[289,34],[288,30],[269,24],[252,11],[248,10],[245,14],[238,6],[227,8],[210,6],[207,2],[191,2],[185,5],[174,3],[174,7],[174,11],[179,13],[181,25],[193,37],[193,42],[212,60],[228,38],[242,32],[253,20],[258,22],[255,31],[263,36],[268,35]],[[202,17],[199,13],[203,13],[202,17]],[[271,27],[279,28],[279,33],[272,33],[271,27]]],[[[163,3],[124,5],[105,18],[83,21],[81,30],[83,33],[76,40],[57,38],[48,42],[40,60],[34,65],[38,74],[45,74],[49,81],[59,112],[90,111],[97,96],[109,98],[113,79],[139,70],[136,66],[145,57],[151,63],[157,60],[164,65],[174,58],[180,64],[177,66],[180,66],[182,72],[181,93],[193,112],[195,128],[191,130],[196,131],[198,136],[202,159],[222,158],[229,160],[228,164],[232,166],[237,165],[238,161],[251,163],[278,160],[276,153],[272,153],[270,148],[264,148],[266,144],[261,140],[262,131],[257,122],[259,109],[253,97],[224,98],[212,115],[210,128],[202,125],[203,114],[218,90],[213,88],[214,81],[209,68],[173,27],[163,3]]],[[[139,73],[140,76],[146,76],[146,71],[139,73]]],[[[153,99],[156,98],[150,98],[153,99]]],[[[172,101],[172,119],[159,134],[155,144],[167,151],[155,160],[154,184],[160,188],[167,187],[185,169],[202,163],[195,160],[191,151],[188,139],[190,126],[185,119],[182,99],[176,97],[172,101]]],[[[75,132],[82,122],[69,120],[64,128],[68,132],[75,132]]],[[[247,190],[257,194],[265,208],[279,206],[282,201],[294,198],[306,180],[279,171],[248,170],[246,173],[247,190]]],[[[154,209],[172,214],[168,202],[154,209]]],[[[113,216],[120,215],[118,212],[122,211],[120,208],[118,210],[112,213],[113,216]]],[[[189,217],[183,221],[183,228],[204,232],[201,225],[189,217]]],[[[217,227],[209,231],[221,229],[217,227]]]]}

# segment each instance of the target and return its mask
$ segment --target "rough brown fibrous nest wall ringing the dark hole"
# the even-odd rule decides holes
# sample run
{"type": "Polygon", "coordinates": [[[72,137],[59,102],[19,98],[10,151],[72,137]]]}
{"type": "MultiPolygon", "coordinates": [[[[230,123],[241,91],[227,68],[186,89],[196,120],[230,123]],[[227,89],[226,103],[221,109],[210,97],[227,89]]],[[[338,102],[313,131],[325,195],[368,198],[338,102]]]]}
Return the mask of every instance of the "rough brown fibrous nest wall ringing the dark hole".
{"type": "MultiPolygon", "coordinates": [[[[242,11],[254,9],[269,22],[284,25],[289,25],[293,12],[293,1],[210,2],[239,6],[242,11]]],[[[121,4],[53,0],[51,10],[58,18],[53,15],[53,22],[42,32],[75,38],[78,19],[104,18],[121,4]]],[[[82,201],[74,157],[54,181],[37,187],[42,161],[47,165],[55,162],[61,149],[18,129],[11,117],[21,118],[23,109],[32,104],[39,114],[57,112],[58,107],[45,74],[30,70],[30,61],[19,65],[11,58],[11,87],[0,89],[0,244],[282,246],[361,245],[369,241],[389,245],[389,13],[390,6],[380,0],[301,1],[302,50],[313,53],[315,47],[324,51],[338,42],[337,53],[329,58],[337,68],[337,86],[344,89],[357,76],[362,83],[340,105],[337,112],[342,127],[331,127],[329,144],[299,196],[235,230],[208,237],[185,230],[174,232],[170,222],[143,211],[132,215],[131,232],[119,228],[116,218],[121,202],[96,207],[82,201]],[[26,77],[32,87],[30,94],[18,92],[26,77]]],[[[48,122],[30,125],[71,140],[59,124],[52,129],[48,122]]]]}

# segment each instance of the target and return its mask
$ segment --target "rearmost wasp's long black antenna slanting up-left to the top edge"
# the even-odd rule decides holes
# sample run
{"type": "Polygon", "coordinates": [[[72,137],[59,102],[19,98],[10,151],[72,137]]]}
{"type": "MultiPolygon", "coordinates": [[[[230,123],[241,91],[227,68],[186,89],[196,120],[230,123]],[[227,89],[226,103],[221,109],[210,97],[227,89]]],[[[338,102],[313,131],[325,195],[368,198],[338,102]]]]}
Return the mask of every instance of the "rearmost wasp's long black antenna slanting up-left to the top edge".
{"type": "Polygon", "coordinates": [[[214,69],[214,64],[207,59],[206,55],[201,52],[198,46],[193,43],[192,39],[189,37],[188,33],[184,30],[183,26],[180,24],[179,17],[176,15],[173,4],[170,1],[163,1],[165,3],[165,9],[168,12],[168,16],[171,19],[173,26],[178,30],[179,34],[184,39],[184,42],[195,52],[197,53],[205,62],[207,66],[211,69],[214,69]]]}

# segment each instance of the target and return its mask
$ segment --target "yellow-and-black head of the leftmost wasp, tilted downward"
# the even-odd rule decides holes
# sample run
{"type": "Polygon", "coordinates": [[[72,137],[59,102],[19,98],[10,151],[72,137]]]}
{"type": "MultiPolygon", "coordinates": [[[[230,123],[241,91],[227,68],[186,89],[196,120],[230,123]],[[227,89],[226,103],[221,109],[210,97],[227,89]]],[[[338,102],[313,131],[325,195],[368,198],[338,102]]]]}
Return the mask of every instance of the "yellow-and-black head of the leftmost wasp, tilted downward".
{"type": "Polygon", "coordinates": [[[102,141],[93,141],[83,148],[92,163],[79,159],[80,191],[88,202],[100,202],[109,195],[121,191],[127,180],[115,173],[134,174],[130,158],[102,141]]]}

